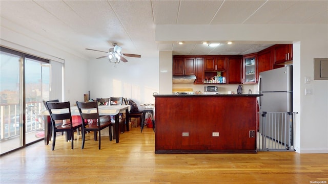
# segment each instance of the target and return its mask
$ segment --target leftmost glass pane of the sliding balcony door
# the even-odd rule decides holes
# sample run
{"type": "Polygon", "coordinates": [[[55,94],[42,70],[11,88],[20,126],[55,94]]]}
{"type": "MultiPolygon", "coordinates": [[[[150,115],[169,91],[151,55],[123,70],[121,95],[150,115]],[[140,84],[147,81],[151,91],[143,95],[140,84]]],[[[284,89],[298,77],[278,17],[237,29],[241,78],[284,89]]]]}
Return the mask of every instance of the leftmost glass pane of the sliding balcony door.
{"type": "Polygon", "coordinates": [[[1,51],[1,153],[23,146],[22,57],[1,51]]]}

